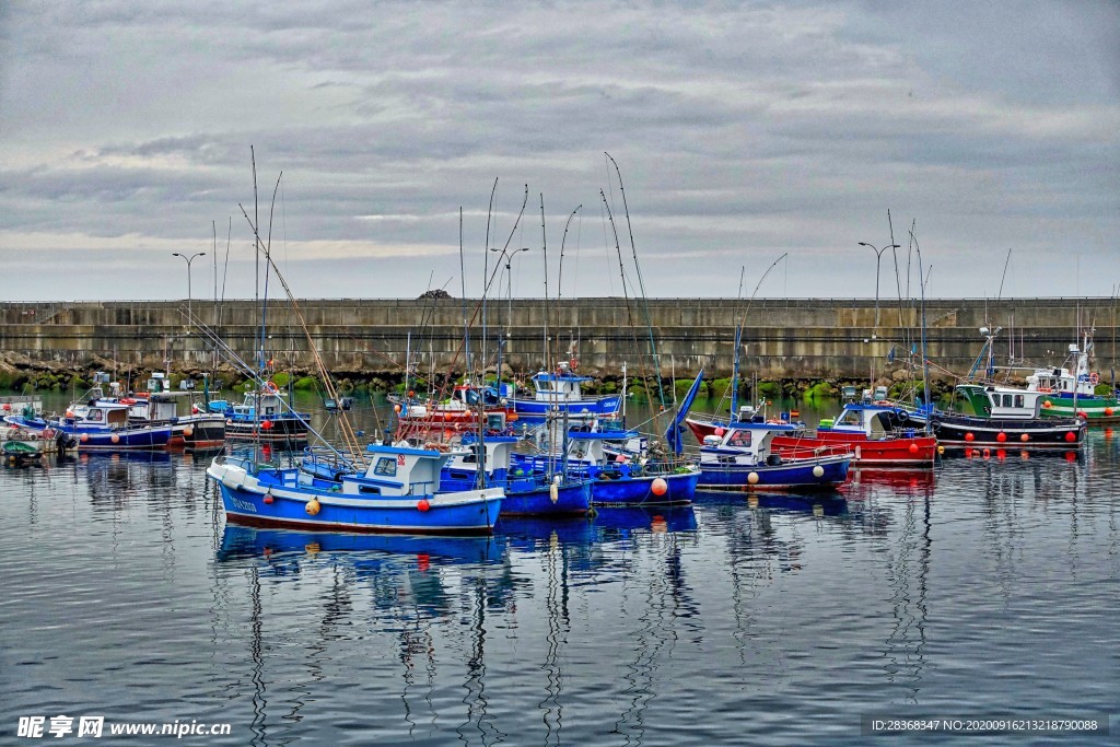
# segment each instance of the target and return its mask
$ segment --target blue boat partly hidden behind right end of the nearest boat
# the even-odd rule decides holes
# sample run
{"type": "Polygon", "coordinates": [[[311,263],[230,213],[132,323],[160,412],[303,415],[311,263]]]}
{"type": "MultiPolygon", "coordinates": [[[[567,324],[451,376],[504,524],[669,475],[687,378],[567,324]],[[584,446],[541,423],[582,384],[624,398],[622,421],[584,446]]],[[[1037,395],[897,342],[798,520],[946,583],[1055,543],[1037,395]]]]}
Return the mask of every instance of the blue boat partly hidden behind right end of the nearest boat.
{"type": "MultiPolygon", "coordinates": [[[[591,507],[591,480],[558,470],[551,477],[511,467],[512,436],[489,436],[483,440],[485,483],[505,489],[502,516],[582,516],[591,507]]],[[[445,489],[468,491],[478,484],[478,440],[464,437],[461,448],[450,451],[444,466],[440,486],[445,489]]]]}

